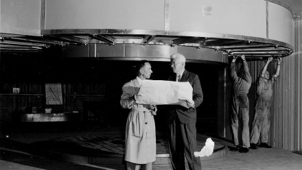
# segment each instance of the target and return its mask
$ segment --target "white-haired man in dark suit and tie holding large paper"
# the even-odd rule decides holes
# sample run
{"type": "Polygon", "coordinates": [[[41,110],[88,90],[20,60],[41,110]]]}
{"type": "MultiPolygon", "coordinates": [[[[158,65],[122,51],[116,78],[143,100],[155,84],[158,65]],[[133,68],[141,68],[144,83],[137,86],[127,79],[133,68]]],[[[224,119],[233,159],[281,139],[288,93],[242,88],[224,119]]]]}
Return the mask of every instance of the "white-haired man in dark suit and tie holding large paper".
{"type": "Polygon", "coordinates": [[[171,56],[170,81],[189,82],[193,87],[193,101],[186,101],[187,107],[172,106],[167,114],[169,127],[170,160],[174,170],[185,169],[185,157],[189,169],[201,169],[200,159],[194,156],[196,142],[196,108],[203,101],[202,89],[198,75],[185,70],[185,56],[175,53],[171,56]],[[185,155],[185,157],[184,157],[185,155]]]}

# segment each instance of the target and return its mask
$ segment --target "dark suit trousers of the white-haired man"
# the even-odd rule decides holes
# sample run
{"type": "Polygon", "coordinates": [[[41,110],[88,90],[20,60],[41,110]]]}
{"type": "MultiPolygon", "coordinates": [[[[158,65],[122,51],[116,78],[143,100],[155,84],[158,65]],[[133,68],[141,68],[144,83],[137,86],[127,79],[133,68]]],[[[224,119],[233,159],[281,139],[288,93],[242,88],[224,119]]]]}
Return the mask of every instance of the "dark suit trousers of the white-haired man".
{"type": "Polygon", "coordinates": [[[196,123],[183,124],[178,117],[169,125],[170,160],[174,170],[185,170],[185,157],[190,170],[200,170],[200,158],[194,156],[197,151],[196,123]]]}

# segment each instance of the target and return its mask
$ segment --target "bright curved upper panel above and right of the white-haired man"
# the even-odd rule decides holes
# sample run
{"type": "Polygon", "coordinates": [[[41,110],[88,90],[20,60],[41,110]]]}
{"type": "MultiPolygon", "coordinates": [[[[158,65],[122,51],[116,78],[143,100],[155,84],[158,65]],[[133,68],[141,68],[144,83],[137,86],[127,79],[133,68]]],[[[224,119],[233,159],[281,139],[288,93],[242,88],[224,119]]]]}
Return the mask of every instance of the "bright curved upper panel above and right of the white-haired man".
{"type": "Polygon", "coordinates": [[[173,0],[170,1],[170,30],[266,38],[266,3],[173,0]]]}

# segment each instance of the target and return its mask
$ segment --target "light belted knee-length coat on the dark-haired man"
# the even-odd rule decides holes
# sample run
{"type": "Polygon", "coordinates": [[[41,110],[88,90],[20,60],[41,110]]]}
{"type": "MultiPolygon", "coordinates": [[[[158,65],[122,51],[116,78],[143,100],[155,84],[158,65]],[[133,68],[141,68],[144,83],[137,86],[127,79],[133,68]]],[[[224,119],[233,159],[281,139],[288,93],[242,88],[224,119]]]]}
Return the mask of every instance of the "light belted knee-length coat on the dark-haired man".
{"type": "MultiPolygon", "coordinates": [[[[137,77],[138,79],[139,77],[137,77]]],[[[154,162],[156,159],[156,131],[153,110],[147,104],[128,104],[130,97],[139,93],[139,80],[124,84],[120,104],[130,109],[126,122],[125,160],[136,164],[154,162]]]]}

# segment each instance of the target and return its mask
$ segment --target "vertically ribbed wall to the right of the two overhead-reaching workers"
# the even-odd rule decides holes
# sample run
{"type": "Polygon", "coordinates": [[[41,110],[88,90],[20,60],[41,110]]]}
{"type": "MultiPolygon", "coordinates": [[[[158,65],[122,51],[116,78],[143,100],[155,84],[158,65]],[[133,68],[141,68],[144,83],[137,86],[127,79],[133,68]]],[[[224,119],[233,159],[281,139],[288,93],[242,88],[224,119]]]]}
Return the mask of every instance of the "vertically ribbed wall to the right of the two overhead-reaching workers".
{"type": "Polygon", "coordinates": [[[272,103],[270,142],[274,147],[301,150],[302,145],[302,23],[294,21],[294,53],[283,58],[272,103]]]}

